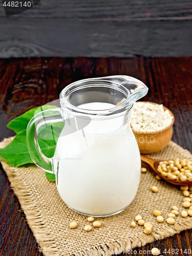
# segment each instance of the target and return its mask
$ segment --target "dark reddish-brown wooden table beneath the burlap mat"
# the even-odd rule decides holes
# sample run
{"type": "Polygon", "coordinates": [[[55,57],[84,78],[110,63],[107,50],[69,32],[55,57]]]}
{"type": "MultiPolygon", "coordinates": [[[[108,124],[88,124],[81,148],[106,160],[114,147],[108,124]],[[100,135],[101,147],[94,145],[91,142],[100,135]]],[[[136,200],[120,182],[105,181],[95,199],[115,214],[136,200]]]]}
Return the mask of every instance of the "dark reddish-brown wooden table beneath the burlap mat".
{"type": "MultiPolygon", "coordinates": [[[[57,99],[69,83],[117,74],[142,80],[149,88],[143,100],[162,103],[173,112],[173,141],[192,152],[192,57],[1,59],[0,140],[14,135],[6,127],[9,121],[57,99]]],[[[42,256],[8,178],[0,168],[0,255],[42,256]]],[[[158,247],[161,251],[170,249],[170,253],[162,255],[188,256],[188,249],[192,252],[191,242],[192,231],[186,230],[136,248],[131,255],[147,255],[145,250],[158,247]]]]}

